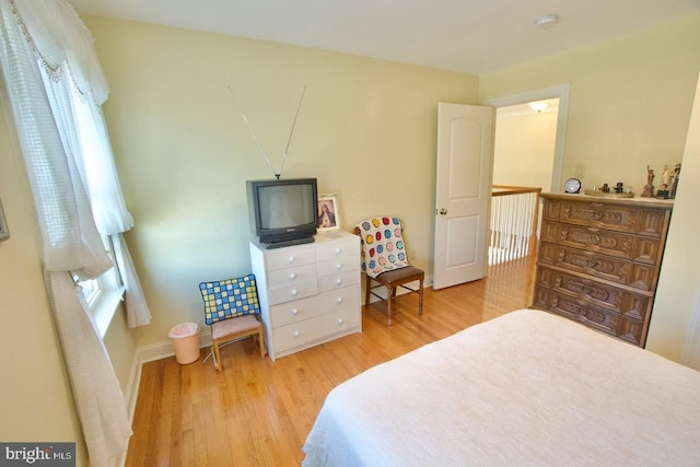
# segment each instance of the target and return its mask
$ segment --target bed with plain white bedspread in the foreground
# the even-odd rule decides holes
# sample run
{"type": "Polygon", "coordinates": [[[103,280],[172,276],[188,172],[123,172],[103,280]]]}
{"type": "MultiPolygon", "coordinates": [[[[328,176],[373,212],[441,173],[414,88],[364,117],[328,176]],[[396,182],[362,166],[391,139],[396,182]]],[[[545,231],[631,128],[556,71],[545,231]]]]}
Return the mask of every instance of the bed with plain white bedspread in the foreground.
{"type": "Polygon", "coordinates": [[[335,387],[303,466],[700,466],[700,372],[535,310],[335,387]]]}

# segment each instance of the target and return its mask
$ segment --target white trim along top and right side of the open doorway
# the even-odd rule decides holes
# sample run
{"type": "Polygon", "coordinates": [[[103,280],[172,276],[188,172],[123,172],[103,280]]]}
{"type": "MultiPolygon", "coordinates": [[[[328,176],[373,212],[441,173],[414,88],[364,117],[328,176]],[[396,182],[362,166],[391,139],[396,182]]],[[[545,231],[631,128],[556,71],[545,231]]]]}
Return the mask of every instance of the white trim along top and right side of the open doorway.
{"type": "MultiPolygon", "coordinates": [[[[557,137],[555,141],[555,160],[551,171],[550,191],[561,191],[563,189],[561,173],[563,171],[564,147],[567,140],[567,117],[569,115],[570,89],[571,84],[564,83],[551,87],[525,91],[501,97],[492,97],[483,102],[483,105],[498,108],[509,105],[526,104],[533,101],[559,97],[559,114],[557,116],[557,137]]],[[[495,131],[498,131],[498,128],[495,131]]]]}

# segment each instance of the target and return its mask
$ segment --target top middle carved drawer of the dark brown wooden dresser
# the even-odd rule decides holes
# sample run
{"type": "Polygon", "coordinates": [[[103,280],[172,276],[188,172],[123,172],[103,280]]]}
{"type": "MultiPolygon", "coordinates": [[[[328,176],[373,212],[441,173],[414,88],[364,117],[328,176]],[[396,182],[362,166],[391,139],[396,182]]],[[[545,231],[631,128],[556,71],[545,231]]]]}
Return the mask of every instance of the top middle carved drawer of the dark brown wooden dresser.
{"type": "Polygon", "coordinates": [[[572,224],[635,233],[640,221],[640,210],[634,207],[594,201],[562,201],[560,220],[572,224]]]}

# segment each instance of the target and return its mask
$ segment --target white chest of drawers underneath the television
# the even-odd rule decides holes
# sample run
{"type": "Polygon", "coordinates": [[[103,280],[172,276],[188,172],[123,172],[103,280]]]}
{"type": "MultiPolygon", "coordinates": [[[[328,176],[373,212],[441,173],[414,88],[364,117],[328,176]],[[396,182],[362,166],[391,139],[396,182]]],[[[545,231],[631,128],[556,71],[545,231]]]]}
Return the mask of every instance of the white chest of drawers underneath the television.
{"type": "Polygon", "coordinates": [[[311,244],[250,242],[267,350],[280,357],[362,331],[360,238],[332,231],[311,244]]]}

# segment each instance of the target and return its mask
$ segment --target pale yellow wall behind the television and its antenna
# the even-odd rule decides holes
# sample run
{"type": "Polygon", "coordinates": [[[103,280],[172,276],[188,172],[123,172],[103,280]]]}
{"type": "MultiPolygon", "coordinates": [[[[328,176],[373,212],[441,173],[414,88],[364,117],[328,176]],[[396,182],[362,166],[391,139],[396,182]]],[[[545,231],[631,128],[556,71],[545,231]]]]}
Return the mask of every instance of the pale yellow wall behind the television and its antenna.
{"type": "Polygon", "coordinates": [[[438,103],[474,104],[476,77],[259,40],[85,17],[112,85],[105,116],[136,227],[127,235],[153,314],[139,346],[203,323],[198,283],[249,272],[245,180],[283,176],[335,192],[342,227],[402,218],[432,262],[438,103]],[[240,107],[229,94],[234,90],[240,107]]]}

